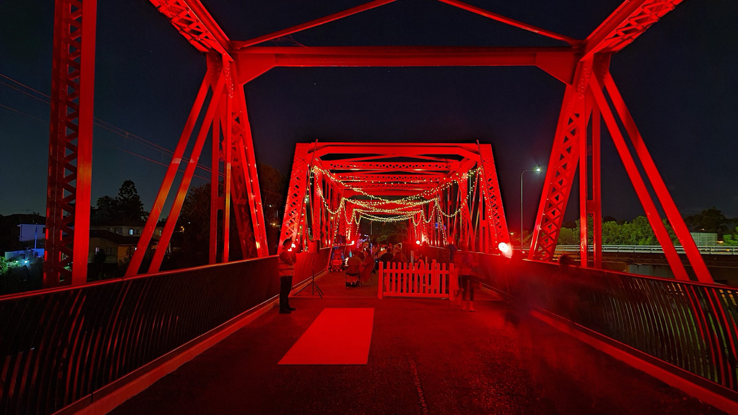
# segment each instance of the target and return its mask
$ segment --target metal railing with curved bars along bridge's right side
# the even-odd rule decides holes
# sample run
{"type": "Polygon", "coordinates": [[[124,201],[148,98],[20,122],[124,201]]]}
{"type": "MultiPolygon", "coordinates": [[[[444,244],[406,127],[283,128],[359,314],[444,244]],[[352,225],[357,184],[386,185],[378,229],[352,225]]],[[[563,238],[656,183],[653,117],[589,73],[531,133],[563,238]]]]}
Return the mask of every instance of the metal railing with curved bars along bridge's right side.
{"type": "Polygon", "coordinates": [[[738,398],[737,289],[486,254],[479,259],[483,282],[508,293],[512,306],[554,313],[738,398]]]}

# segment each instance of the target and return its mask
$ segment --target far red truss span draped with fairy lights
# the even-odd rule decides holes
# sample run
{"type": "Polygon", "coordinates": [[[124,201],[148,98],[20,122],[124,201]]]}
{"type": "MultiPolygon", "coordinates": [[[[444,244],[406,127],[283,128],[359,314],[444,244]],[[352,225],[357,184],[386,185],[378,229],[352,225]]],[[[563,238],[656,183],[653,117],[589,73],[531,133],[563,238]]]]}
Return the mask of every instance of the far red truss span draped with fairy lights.
{"type": "Polygon", "coordinates": [[[321,245],[355,243],[362,220],[405,222],[418,244],[509,250],[489,144],[297,144],[280,243],[306,246],[308,226],[321,245]]]}

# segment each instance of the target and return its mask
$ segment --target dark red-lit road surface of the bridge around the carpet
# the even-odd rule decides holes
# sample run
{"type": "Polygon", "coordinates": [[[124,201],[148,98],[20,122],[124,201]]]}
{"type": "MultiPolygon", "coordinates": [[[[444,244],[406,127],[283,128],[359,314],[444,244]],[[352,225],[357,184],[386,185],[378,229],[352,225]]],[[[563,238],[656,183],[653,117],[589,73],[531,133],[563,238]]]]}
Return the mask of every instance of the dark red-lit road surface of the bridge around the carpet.
{"type": "Polygon", "coordinates": [[[112,414],[722,414],[489,296],[376,299],[341,275],[271,310],[112,414]],[[374,307],[367,365],[277,366],[325,307],[374,307]]]}

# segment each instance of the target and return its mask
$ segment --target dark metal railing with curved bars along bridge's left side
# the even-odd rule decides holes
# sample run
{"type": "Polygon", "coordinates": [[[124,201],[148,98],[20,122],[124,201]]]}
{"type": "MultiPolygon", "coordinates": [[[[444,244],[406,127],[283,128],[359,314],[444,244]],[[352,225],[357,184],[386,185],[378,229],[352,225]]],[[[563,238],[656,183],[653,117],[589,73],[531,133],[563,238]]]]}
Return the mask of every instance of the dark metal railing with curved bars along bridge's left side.
{"type": "MultiPolygon", "coordinates": [[[[294,282],[328,248],[297,255],[294,282]]],[[[0,297],[0,414],[51,414],[279,293],[277,257],[0,297]]]]}

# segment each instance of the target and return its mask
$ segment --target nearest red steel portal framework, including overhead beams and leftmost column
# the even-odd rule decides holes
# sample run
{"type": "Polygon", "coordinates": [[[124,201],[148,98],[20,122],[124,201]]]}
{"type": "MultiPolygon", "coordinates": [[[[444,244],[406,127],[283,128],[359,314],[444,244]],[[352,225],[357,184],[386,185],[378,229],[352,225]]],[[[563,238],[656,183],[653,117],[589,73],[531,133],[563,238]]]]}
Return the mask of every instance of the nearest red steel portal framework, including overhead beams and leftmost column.
{"type": "MultiPolygon", "coordinates": [[[[503,15],[489,12],[458,0],[439,0],[494,21],[536,32],[539,35],[568,43],[561,48],[469,48],[438,46],[350,46],[350,47],[264,47],[255,46],[281,36],[299,32],[354,15],[394,0],[374,0],[342,12],[308,21],[248,41],[231,41],[199,0],[150,0],[159,12],[196,49],[207,57],[205,75],[190,118],[185,124],[177,150],[168,167],[154,208],[147,220],[137,251],[126,275],[135,275],[148,250],[173,176],[184,155],[184,147],[193,132],[208,89],[213,97],[207,107],[206,119],[197,134],[196,149],[185,169],[174,206],[184,200],[199,151],[210,126],[213,126],[213,190],[210,214],[210,263],[218,260],[218,211],[230,215],[230,203],[238,223],[239,243],[244,257],[262,257],[266,250],[266,229],[261,206],[261,192],[255,170],[255,157],[244,84],[275,66],[537,66],[566,84],[562,111],[554,136],[554,147],[546,172],[545,186],[531,240],[531,259],[550,261],[562,226],[573,176],[579,165],[580,218],[582,257],[587,258],[587,217],[601,216],[599,183],[599,122],[600,116],[613,136],[618,154],[635,186],[646,217],[649,218],[659,243],[678,279],[689,279],[684,265],[675,252],[661,216],[655,207],[635,161],[646,172],[666,218],[687,252],[690,265],[700,282],[712,282],[711,276],[692,240],[689,230],[673,202],[661,175],[635,126],[630,111],[620,96],[609,72],[610,57],[630,44],[682,0],[625,0],[599,27],[583,40],[569,38],[546,29],[534,27],[503,15]],[[610,108],[605,92],[613,102],[610,108]],[[223,99],[225,97],[225,99],[223,99]],[[624,142],[615,114],[624,124],[628,139],[635,147],[635,158],[624,142]],[[593,119],[593,135],[587,138],[587,124],[593,119]],[[594,127],[594,125],[597,125],[594,127]],[[184,142],[185,145],[182,145],[184,142]],[[591,151],[590,151],[591,147],[591,151]],[[217,153],[217,157],[215,156],[217,153]],[[217,158],[217,166],[216,164],[217,158]],[[591,158],[591,161],[590,161],[591,158]],[[220,182],[220,164],[224,181],[220,182]],[[586,190],[586,191],[585,191],[586,190]],[[592,197],[589,198],[589,193],[592,197]]],[[[94,91],[94,31],[96,0],[55,1],[54,68],[52,77],[52,125],[49,135],[49,193],[47,197],[46,269],[44,285],[77,285],[86,282],[86,257],[89,231],[90,183],[92,180],[92,99],[94,91]],[[84,17],[83,17],[84,16],[84,17]],[[79,91],[75,91],[76,89],[79,91]],[[76,142],[75,142],[76,140],[76,142]],[[72,181],[75,183],[72,184],[72,181]],[[72,207],[72,203],[75,203],[72,207]],[[75,223],[72,229],[70,223],[75,223]],[[72,258],[70,261],[69,258],[72,258]],[[66,265],[72,271],[66,271],[66,265]]],[[[295,155],[297,157],[297,154],[295,155]]],[[[302,172],[304,173],[304,172],[302,172]]],[[[301,173],[301,174],[302,174],[301,173]]],[[[295,172],[293,172],[293,175],[295,172]]],[[[493,195],[497,198],[498,195],[493,195]]],[[[500,202],[495,200],[494,203],[500,202]]],[[[156,245],[149,272],[159,271],[179,207],[170,210],[164,234],[156,245]]],[[[501,206],[501,203],[500,203],[501,206]]],[[[288,210],[292,209],[288,206],[288,210]]],[[[501,209],[500,209],[501,210],[501,209]]],[[[290,211],[292,212],[292,211],[290,211]]],[[[286,217],[285,220],[294,220],[286,217]]],[[[228,220],[221,232],[223,246],[220,260],[229,259],[228,220]]],[[[594,234],[601,234],[595,220],[594,234]]],[[[522,237],[522,235],[521,235],[522,237]]],[[[597,239],[597,238],[596,238],[597,239]]],[[[601,245],[595,243],[592,266],[599,267],[601,245]]],[[[588,261],[582,266],[589,267],[588,261]]]]}

